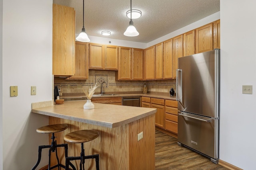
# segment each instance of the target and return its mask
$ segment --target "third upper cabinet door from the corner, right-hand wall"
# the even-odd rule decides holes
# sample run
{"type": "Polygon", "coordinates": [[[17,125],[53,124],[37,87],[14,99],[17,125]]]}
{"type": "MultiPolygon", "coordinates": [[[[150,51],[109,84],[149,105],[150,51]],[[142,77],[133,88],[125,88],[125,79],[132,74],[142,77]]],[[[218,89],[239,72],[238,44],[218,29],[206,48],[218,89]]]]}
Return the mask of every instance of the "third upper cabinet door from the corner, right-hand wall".
{"type": "Polygon", "coordinates": [[[163,56],[163,66],[164,78],[173,78],[172,67],[173,67],[173,59],[172,59],[172,39],[168,39],[164,41],[164,56],[163,56]]]}

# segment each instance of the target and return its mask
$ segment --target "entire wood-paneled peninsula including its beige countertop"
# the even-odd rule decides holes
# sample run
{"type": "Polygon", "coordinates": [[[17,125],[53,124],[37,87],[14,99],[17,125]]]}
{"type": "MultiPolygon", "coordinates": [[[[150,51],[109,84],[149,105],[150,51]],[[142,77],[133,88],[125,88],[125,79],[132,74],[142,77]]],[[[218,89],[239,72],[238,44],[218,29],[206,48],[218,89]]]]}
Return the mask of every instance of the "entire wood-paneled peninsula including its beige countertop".
{"type": "MultiPolygon", "coordinates": [[[[49,116],[49,124],[67,123],[68,129],[56,133],[57,143],[66,143],[64,135],[72,131],[93,129],[100,136],[84,143],[85,154],[100,155],[101,170],[155,169],[155,113],[154,108],[118,106],[94,103],[94,109],[83,109],[86,100],[67,101],[62,105],[33,108],[32,112],[49,116]],[[138,141],[138,134],[143,138],[138,141]]],[[[49,140],[50,142],[50,140],[49,140]]],[[[80,144],[68,143],[68,156],[80,156],[80,144]]],[[[65,164],[64,149],[58,149],[65,164]]],[[[52,163],[56,163],[52,156],[52,163]]],[[[79,162],[74,162],[79,167],[79,162]]],[[[94,160],[85,166],[95,169],[94,160]]]]}

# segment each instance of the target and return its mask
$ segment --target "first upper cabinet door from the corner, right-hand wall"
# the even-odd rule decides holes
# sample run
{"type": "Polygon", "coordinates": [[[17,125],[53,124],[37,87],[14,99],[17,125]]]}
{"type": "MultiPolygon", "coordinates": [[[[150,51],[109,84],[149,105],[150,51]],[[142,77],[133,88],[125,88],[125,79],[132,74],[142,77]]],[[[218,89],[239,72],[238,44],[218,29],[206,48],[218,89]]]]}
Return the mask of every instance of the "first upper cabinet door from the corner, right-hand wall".
{"type": "Polygon", "coordinates": [[[155,46],[145,49],[145,63],[144,63],[145,80],[155,79],[155,46]]]}

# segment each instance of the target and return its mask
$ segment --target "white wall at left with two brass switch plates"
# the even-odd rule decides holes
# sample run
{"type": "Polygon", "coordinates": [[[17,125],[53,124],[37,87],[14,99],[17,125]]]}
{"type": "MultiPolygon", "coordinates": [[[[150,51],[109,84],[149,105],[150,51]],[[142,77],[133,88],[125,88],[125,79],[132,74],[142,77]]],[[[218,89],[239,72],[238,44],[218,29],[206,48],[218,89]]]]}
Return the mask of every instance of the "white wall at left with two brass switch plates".
{"type": "MultiPolygon", "coordinates": [[[[52,100],[52,0],[1,0],[2,21],[2,153],[3,170],[29,170],[38,145],[48,135],[36,133],[48,117],[31,111],[31,103],[52,100]],[[10,86],[18,96],[10,97],[10,86]],[[36,86],[36,96],[30,95],[36,86]]],[[[48,164],[48,154],[41,166],[48,164]]]]}

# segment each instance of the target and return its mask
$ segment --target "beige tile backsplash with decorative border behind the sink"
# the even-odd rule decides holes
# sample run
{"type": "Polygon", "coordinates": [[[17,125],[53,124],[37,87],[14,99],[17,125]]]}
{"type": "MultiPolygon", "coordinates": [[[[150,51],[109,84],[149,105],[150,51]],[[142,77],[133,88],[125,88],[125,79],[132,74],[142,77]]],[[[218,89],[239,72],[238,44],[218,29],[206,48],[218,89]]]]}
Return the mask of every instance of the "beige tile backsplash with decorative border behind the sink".
{"type": "MultiPolygon", "coordinates": [[[[144,82],[148,92],[166,92],[169,93],[170,88],[176,91],[176,80],[150,80],[150,81],[124,81],[116,80],[115,71],[110,70],[89,70],[89,78],[87,80],[62,80],[54,79],[54,86],[60,88],[60,96],[62,93],[83,93],[82,89],[88,89],[95,83],[102,84],[105,93],[111,92],[141,92],[144,88],[144,82]]],[[[100,86],[95,90],[95,94],[101,92],[100,86]]]]}

